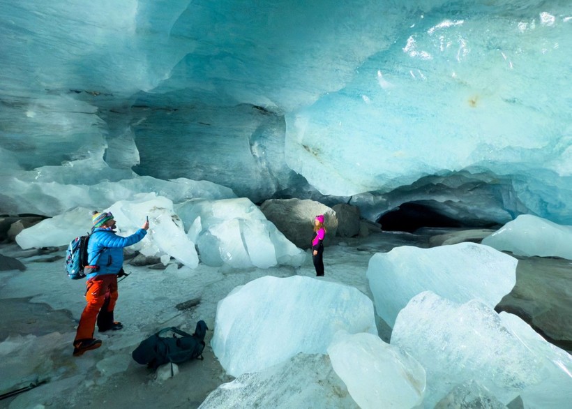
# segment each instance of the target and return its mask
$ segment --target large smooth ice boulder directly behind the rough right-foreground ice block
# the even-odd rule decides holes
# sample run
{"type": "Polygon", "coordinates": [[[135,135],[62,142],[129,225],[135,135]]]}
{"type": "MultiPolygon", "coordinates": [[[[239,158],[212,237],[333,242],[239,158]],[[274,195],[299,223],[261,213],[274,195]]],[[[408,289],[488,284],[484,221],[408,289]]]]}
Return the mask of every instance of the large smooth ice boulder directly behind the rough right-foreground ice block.
{"type": "Polygon", "coordinates": [[[491,308],[511,292],[518,260],[475,243],[401,246],[370,258],[366,275],[377,314],[390,327],[412,297],[430,290],[454,302],[478,298],[491,308]]]}

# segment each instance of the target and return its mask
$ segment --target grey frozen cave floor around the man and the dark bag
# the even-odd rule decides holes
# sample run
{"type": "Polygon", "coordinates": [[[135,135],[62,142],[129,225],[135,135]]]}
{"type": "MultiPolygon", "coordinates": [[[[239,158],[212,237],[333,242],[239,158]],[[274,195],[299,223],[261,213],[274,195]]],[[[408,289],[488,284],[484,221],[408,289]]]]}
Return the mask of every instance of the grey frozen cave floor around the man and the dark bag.
{"type": "MultiPolygon", "coordinates": [[[[325,279],[352,285],[371,298],[366,278],[371,256],[394,246],[428,247],[430,237],[435,234],[434,231],[426,231],[424,235],[377,233],[366,238],[338,241],[324,253],[325,279]]],[[[96,337],[103,340],[103,346],[82,357],[73,357],[75,327],[84,306],[84,281],[70,281],[66,277],[64,252],[30,256],[31,251],[4,245],[0,247],[0,253],[18,258],[27,267],[24,272],[0,272],[0,393],[24,387],[35,380],[47,381],[28,392],[1,400],[1,408],[126,408],[133,405],[140,408],[197,408],[216,387],[232,380],[218,363],[210,345],[218,301],[237,285],[262,276],[315,275],[310,257],[299,268],[223,271],[202,264],[194,270],[172,264],[163,270],[126,265],[130,276],[119,283],[116,307],[116,318],[123,322],[124,329],[113,334],[96,332],[96,337]],[[195,304],[192,300],[196,299],[200,302],[195,306],[185,308],[181,305],[185,302],[195,304]],[[210,329],[205,339],[204,360],[181,364],[180,372],[174,378],[156,379],[154,373],[131,358],[131,352],[140,341],[158,329],[177,326],[193,332],[198,320],[204,320],[210,329]]],[[[539,304],[550,305],[543,310],[552,317],[560,317],[561,326],[567,326],[567,329],[560,329],[559,334],[570,334],[570,323],[565,318],[571,316],[569,309],[566,310],[570,303],[565,290],[569,288],[570,262],[550,258],[538,260],[520,260],[515,285],[519,293],[512,294],[512,300],[505,297],[501,304],[505,309],[518,310],[523,318],[527,314],[534,315],[539,304]],[[523,274],[536,276],[536,279],[523,279],[523,274]],[[561,285],[558,288],[553,284],[545,285],[541,276],[550,277],[551,283],[556,280],[561,285]],[[526,283],[532,283],[539,294],[534,305],[529,295],[531,291],[523,287],[526,283]],[[529,306],[519,301],[521,295],[528,298],[529,306]],[[559,297],[562,299],[558,300],[559,297]]],[[[389,327],[376,319],[379,335],[389,342],[389,327]]],[[[561,348],[564,348],[562,340],[561,348]]]]}

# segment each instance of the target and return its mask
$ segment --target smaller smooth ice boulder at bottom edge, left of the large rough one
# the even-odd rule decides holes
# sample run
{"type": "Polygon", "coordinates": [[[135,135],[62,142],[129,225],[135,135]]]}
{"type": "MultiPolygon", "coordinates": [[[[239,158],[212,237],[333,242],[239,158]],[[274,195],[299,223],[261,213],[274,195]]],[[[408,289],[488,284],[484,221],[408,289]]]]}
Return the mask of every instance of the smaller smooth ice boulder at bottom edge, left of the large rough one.
{"type": "Polygon", "coordinates": [[[379,336],[340,331],[328,354],[334,371],[361,409],[407,409],[423,402],[425,369],[379,336]]]}

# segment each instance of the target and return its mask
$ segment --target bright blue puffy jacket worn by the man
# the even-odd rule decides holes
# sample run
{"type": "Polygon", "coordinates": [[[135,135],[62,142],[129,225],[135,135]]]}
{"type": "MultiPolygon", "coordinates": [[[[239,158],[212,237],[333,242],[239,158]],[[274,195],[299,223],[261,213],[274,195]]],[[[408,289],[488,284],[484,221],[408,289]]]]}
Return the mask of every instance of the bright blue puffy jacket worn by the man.
{"type": "Polygon", "coordinates": [[[93,229],[87,242],[87,262],[99,268],[96,271],[86,269],[86,278],[89,280],[98,275],[119,273],[123,267],[123,247],[141,241],[146,234],[146,230],[139,229],[133,235],[121,237],[110,228],[93,229]]]}

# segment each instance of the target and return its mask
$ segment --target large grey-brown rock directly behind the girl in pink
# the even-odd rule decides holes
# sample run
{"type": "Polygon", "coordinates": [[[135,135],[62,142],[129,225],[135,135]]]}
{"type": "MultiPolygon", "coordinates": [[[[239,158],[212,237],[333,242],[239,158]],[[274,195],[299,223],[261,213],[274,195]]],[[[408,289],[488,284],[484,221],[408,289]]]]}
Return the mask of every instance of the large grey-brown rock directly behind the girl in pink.
{"type": "Polygon", "coordinates": [[[338,230],[336,212],[314,200],[271,199],[262,203],[260,210],[289,241],[299,248],[306,249],[312,246],[314,218],[318,214],[324,215],[327,230],[324,246],[331,243],[331,238],[336,236],[338,230]]]}

